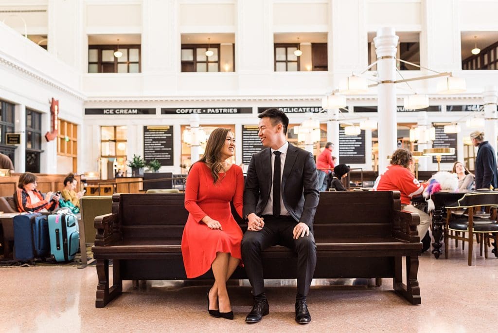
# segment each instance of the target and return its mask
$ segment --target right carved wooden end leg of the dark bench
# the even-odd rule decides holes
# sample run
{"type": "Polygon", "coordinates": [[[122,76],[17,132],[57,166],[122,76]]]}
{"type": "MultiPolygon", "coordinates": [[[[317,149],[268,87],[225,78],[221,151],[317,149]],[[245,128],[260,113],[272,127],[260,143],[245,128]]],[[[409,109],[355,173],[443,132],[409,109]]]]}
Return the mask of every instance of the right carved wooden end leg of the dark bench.
{"type": "Polygon", "coordinates": [[[406,284],[403,283],[402,258],[394,258],[394,291],[401,294],[412,305],[421,304],[420,288],[418,286],[418,256],[406,257],[406,284]]]}

